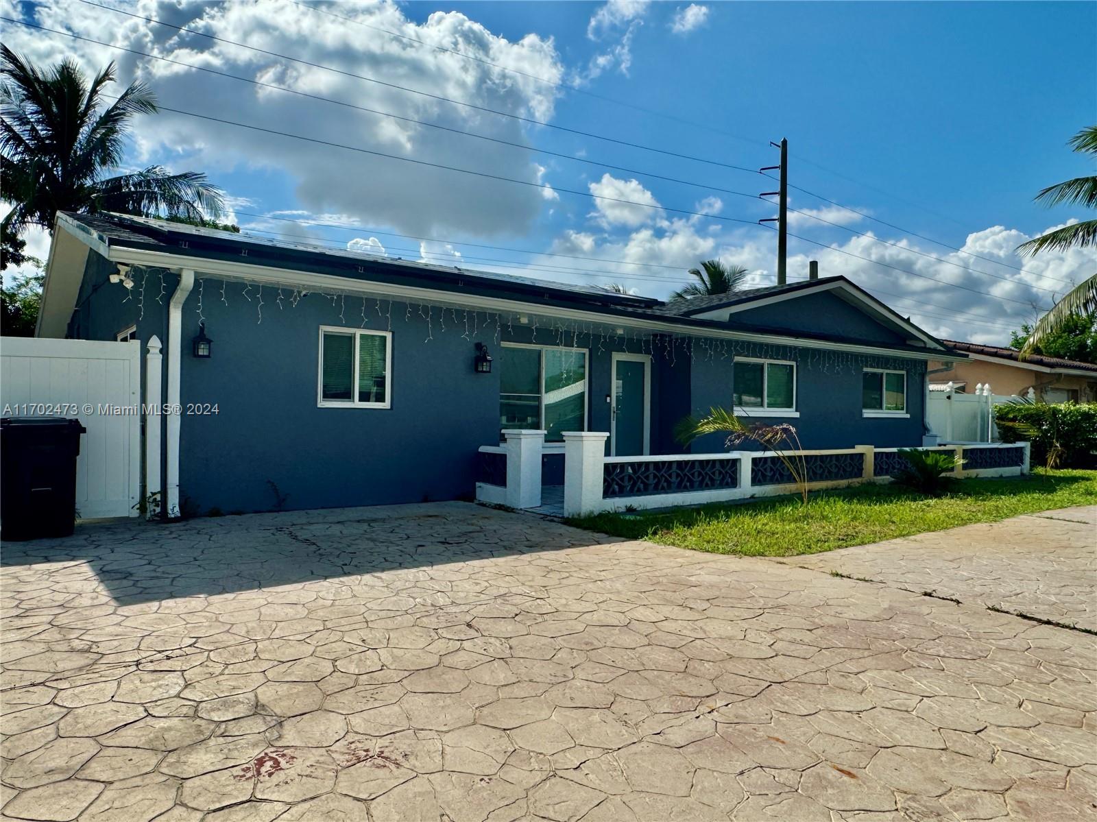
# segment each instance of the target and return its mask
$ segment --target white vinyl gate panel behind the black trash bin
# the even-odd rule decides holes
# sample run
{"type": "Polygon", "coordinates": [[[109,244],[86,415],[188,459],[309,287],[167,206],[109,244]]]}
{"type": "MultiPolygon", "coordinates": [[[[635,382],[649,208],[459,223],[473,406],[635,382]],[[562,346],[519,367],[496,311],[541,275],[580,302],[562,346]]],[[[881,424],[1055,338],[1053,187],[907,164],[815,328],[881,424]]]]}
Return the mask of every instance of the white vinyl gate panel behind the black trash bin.
{"type": "Polygon", "coordinates": [[[83,519],[137,516],[140,344],[0,337],[3,416],[49,414],[87,429],[77,459],[83,519]]]}

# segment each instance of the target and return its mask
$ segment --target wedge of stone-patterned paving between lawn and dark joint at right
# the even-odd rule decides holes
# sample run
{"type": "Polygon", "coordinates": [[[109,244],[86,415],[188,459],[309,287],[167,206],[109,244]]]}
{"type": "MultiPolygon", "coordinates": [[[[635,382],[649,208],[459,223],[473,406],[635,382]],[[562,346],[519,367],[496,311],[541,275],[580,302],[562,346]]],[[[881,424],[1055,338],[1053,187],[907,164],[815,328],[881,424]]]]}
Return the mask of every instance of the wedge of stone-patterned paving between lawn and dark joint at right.
{"type": "Polygon", "coordinates": [[[1097,631],[1097,505],[780,561],[1097,631]]]}

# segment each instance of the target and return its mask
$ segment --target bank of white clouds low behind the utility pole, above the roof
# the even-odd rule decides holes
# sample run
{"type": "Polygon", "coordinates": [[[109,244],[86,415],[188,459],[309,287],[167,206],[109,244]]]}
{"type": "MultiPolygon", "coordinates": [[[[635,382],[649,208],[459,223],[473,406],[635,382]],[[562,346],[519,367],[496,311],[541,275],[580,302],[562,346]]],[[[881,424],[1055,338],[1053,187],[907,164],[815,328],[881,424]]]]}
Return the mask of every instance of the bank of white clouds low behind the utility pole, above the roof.
{"type": "MultiPolygon", "coordinates": [[[[728,266],[749,269],[748,288],[774,283],[774,233],[736,228],[713,236],[705,221],[700,218],[657,219],[653,225],[638,227],[624,236],[611,233],[610,228],[612,226],[607,226],[608,233],[602,235],[567,232],[552,246],[552,251],[559,255],[600,258],[603,262],[576,262],[565,257],[538,261],[581,266],[599,273],[539,274],[531,270],[530,275],[586,284],[622,282],[638,289],[642,294],[666,297],[685,284],[689,268],[700,260],[719,258],[728,266]],[[659,266],[669,268],[657,268],[659,266]]],[[[1093,273],[1093,252],[1087,249],[1072,248],[1034,258],[1018,257],[1014,249],[1030,237],[1003,226],[970,234],[960,251],[886,237],[900,246],[896,248],[878,243],[872,236],[851,237],[829,248],[808,247],[792,240],[789,281],[807,279],[808,261],[818,260],[822,277],[842,274],[849,278],[935,336],[1007,345],[1010,330],[1019,328],[1021,323],[1032,322],[1072,284],[1093,273]],[[1015,266],[1022,271],[996,263],[1015,266]],[[987,277],[986,273],[995,277],[987,277]]]]}

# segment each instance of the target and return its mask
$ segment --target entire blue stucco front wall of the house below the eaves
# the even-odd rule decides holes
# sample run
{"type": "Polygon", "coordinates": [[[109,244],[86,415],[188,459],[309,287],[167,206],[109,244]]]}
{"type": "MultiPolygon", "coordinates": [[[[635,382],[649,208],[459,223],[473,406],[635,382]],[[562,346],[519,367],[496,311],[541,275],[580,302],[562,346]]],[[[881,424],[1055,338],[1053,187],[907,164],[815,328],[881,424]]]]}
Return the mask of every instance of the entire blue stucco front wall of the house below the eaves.
{"type": "MultiPolygon", "coordinates": [[[[167,340],[167,306],[177,278],[166,272],[161,289],[160,272],[148,273],[142,316],[140,277],[126,300],[125,290],[108,281],[113,270],[99,255],[89,255],[69,334],[114,339],[118,330],[136,323],[144,354],[152,334],[167,340]]],[[[781,421],[795,426],[805,448],[914,446],[921,440],[921,361],[754,344],[706,347],[701,341],[690,353],[681,339],[671,353],[660,337],[653,345],[598,333],[576,334],[572,328],[562,335],[547,327],[539,328],[534,337],[532,328],[517,322],[510,325],[504,319],[497,328],[494,315],[484,313],[475,322],[470,314],[465,338],[463,311],[457,309],[456,323],[452,312],[446,312],[443,331],[438,307],[430,308],[428,324],[422,316],[426,306],[420,309],[412,303],[408,316],[406,304],[399,302],[392,305],[392,408],[318,408],[319,327],[359,327],[362,301],[313,294],[292,307],[291,292],[283,291],[280,307],[276,290],[268,288],[262,293],[260,323],[256,286],[249,290],[248,300],[241,284],[227,284],[223,301],[220,285],[219,280],[199,280],[183,307],[183,404],[216,403],[218,409],[216,416],[182,419],[180,488],[192,511],[271,509],[276,497],[270,483],[285,496],[285,508],[467,498],[474,489],[476,450],[498,441],[498,364],[506,357],[504,340],[588,349],[588,430],[610,428],[606,395],[612,391],[612,353],[652,353],[653,453],[682,450],[672,431],[687,414],[703,415],[711,406],[731,405],[736,354],[798,363],[801,416],[781,421]],[[190,353],[191,338],[197,334],[200,295],[214,340],[210,360],[196,360],[190,353]],[[432,339],[427,341],[428,337],[432,339]],[[486,344],[496,358],[491,374],[473,371],[476,341],[486,344]],[[861,415],[861,369],[866,365],[907,371],[909,418],[866,419],[861,415]]],[[[849,308],[836,302],[840,307],[817,306],[819,313],[811,316],[825,325],[827,316],[849,308]]],[[[382,301],[381,307],[387,313],[387,302],[382,301]]],[[[367,328],[388,328],[388,318],[378,316],[373,300],[366,304],[366,320],[367,328]]],[[[878,329],[877,338],[890,334],[866,322],[878,329]]],[[[864,337],[870,330],[848,316],[841,325],[855,336],[864,337]]],[[[691,450],[723,451],[723,437],[699,440],[691,450]]],[[[558,466],[551,468],[548,473],[555,477],[558,466]]]]}

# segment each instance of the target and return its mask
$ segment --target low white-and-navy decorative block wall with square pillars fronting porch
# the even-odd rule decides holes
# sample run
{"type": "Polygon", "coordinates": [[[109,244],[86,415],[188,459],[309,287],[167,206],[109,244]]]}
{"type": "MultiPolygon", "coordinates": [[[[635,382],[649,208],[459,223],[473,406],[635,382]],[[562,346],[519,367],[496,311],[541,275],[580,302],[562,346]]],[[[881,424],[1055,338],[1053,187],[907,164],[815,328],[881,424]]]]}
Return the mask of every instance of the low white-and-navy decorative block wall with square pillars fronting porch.
{"type": "MultiPolygon", "coordinates": [[[[505,446],[484,446],[476,498],[513,508],[541,504],[543,431],[507,431],[505,446]]],[[[606,457],[608,433],[564,433],[564,514],[580,516],[626,508],[672,508],[799,493],[772,451],[606,457]]],[[[897,448],[790,451],[803,461],[811,491],[864,482],[891,482],[905,464],[897,448]]],[[[948,444],[918,449],[954,452],[965,476],[1016,476],[1029,470],[1029,443],[948,444]]]]}

